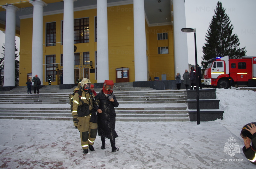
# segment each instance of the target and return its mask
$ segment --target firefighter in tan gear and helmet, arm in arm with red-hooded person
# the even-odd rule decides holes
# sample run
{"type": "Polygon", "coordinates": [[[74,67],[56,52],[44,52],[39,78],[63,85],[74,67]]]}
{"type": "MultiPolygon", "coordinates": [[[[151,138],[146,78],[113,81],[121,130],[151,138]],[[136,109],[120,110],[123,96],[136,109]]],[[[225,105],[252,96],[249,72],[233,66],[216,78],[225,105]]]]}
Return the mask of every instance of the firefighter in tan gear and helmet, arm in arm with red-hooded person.
{"type": "Polygon", "coordinates": [[[91,81],[83,78],[81,89],[74,95],[72,116],[74,123],[77,124],[77,128],[80,131],[84,154],[88,153],[88,148],[90,151],[95,151],[92,145],[97,135],[98,124],[97,122],[90,122],[92,112],[94,111],[92,107],[93,98],[91,81]],[[85,111],[81,111],[82,107],[85,111]]]}

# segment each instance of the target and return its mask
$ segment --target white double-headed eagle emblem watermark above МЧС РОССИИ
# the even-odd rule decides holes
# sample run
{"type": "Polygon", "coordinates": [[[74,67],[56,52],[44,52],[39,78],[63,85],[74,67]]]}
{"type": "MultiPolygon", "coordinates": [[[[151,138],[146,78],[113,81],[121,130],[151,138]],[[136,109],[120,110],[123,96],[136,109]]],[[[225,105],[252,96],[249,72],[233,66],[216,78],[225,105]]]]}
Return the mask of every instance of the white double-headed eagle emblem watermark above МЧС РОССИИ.
{"type": "Polygon", "coordinates": [[[233,136],[229,137],[227,143],[224,146],[224,153],[228,154],[230,157],[233,157],[236,153],[240,153],[240,148],[238,143],[235,143],[237,140],[233,136]]]}

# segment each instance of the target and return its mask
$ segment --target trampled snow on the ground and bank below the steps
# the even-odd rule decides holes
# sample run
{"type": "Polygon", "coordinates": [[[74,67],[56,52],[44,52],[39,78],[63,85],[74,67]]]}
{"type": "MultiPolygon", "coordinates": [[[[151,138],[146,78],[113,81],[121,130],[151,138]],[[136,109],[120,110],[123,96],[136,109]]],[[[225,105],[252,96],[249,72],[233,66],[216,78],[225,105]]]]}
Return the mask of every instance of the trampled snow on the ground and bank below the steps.
{"type": "Polygon", "coordinates": [[[225,111],[223,120],[200,125],[117,121],[119,151],[115,153],[111,153],[109,140],[101,150],[97,136],[96,151],[83,154],[72,121],[0,120],[0,168],[255,168],[244,157],[240,131],[256,121],[256,92],[217,89],[216,97],[225,111]],[[240,147],[233,157],[224,153],[228,139],[240,147]]]}

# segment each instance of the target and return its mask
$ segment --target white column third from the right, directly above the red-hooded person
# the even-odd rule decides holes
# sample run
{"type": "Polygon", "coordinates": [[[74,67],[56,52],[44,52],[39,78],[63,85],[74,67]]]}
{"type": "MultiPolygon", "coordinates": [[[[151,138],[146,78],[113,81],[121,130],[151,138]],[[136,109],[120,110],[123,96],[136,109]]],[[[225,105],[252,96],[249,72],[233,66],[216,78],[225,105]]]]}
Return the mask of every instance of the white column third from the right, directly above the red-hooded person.
{"type": "Polygon", "coordinates": [[[97,0],[97,68],[97,82],[109,80],[107,0],[97,0]]]}

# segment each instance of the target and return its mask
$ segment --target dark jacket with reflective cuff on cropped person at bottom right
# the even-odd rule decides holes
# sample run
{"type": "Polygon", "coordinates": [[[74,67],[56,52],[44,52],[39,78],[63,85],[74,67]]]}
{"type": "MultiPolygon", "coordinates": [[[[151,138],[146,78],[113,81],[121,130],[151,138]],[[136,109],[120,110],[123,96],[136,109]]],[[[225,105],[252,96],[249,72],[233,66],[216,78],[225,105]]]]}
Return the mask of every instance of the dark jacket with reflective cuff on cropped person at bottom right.
{"type": "Polygon", "coordinates": [[[248,149],[245,148],[245,146],[243,147],[243,152],[245,157],[251,161],[252,164],[256,165],[256,133],[254,133],[252,135],[252,146],[250,146],[248,149]]]}

